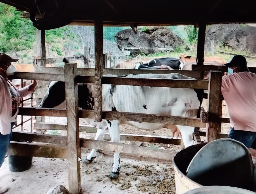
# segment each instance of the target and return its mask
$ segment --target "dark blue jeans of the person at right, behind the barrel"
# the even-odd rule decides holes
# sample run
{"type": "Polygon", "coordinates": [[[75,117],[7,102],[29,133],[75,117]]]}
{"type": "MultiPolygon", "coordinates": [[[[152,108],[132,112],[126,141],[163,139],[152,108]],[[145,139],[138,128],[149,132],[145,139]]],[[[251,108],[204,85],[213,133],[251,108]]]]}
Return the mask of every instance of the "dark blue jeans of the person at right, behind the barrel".
{"type": "Polygon", "coordinates": [[[240,141],[246,147],[250,148],[254,144],[254,140],[256,138],[256,132],[234,130],[234,127],[231,127],[231,130],[228,134],[228,138],[240,141]]]}

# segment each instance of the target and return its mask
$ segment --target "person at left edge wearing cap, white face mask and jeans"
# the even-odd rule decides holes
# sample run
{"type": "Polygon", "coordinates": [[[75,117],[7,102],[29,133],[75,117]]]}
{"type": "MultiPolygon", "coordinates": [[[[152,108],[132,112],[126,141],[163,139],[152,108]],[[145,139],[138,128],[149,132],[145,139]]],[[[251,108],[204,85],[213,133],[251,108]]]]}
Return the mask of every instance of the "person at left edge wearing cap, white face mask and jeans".
{"type": "MultiPolygon", "coordinates": [[[[7,79],[15,72],[12,62],[16,61],[18,59],[0,53],[0,168],[12,138],[12,127],[17,122],[18,106],[21,104],[21,99],[33,93],[37,85],[37,82],[33,80],[32,84],[18,89],[7,79]]],[[[0,194],[7,191],[8,188],[3,187],[0,180],[0,194]]]]}

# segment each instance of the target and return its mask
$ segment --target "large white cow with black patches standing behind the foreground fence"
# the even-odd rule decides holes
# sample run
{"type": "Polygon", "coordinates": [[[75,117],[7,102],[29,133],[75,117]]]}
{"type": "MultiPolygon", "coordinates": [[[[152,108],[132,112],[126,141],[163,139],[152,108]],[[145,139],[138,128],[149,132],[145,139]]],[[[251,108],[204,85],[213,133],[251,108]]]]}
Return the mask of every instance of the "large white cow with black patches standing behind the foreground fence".
{"type": "MultiPolygon", "coordinates": [[[[131,77],[131,78],[161,78],[161,79],[192,79],[178,73],[171,74],[128,74],[125,76],[105,75],[108,77],[131,77]]],[[[147,87],[131,85],[102,85],[102,110],[121,111],[128,113],[147,113],[161,116],[200,117],[200,108],[203,100],[203,90],[189,88],[147,87]]],[[[94,84],[78,84],[78,107],[80,109],[94,109],[94,84]]],[[[38,107],[54,108],[65,104],[65,83],[53,81],[38,107]]],[[[194,140],[194,127],[173,125],[172,123],[145,123],[125,120],[102,120],[95,123],[94,119],[87,119],[91,126],[97,127],[95,140],[103,140],[105,130],[108,128],[111,141],[120,142],[120,124],[128,124],[144,130],[159,130],[167,128],[173,136],[180,134],[185,147],[197,144],[194,140]]],[[[96,149],[83,160],[89,164],[96,157],[96,149]]],[[[110,179],[119,175],[119,153],[114,152],[114,163],[110,179]]]]}

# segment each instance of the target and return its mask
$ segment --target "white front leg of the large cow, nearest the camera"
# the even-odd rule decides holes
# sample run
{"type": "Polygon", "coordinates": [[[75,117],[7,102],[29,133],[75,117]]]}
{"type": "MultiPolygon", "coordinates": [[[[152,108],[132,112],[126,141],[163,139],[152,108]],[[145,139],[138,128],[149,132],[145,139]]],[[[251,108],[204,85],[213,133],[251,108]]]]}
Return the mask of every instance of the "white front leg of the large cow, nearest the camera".
{"type": "MultiPolygon", "coordinates": [[[[120,131],[119,131],[119,125],[120,121],[118,120],[106,120],[108,125],[108,130],[110,133],[110,138],[112,142],[120,143],[120,131]]],[[[114,163],[113,168],[111,170],[110,175],[108,178],[115,179],[118,178],[120,170],[120,156],[119,152],[114,152],[114,163]]]]}

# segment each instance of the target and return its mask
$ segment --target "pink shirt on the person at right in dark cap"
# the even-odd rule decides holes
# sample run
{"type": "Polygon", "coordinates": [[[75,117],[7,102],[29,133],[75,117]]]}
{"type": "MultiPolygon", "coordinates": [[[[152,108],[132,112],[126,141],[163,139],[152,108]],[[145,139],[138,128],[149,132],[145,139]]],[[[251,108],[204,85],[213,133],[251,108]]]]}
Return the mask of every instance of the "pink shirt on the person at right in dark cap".
{"type": "Polygon", "coordinates": [[[239,72],[222,77],[221,92],[234,130],[256,131],[256,74],[239,72]]]}

